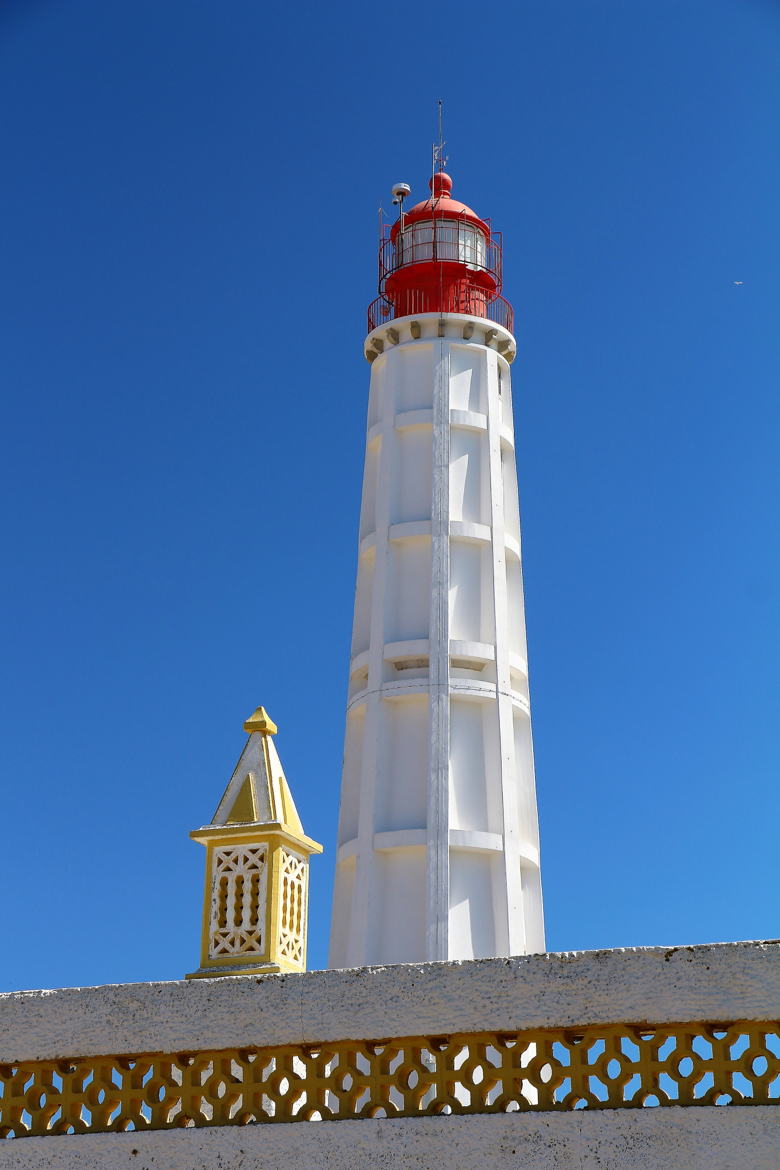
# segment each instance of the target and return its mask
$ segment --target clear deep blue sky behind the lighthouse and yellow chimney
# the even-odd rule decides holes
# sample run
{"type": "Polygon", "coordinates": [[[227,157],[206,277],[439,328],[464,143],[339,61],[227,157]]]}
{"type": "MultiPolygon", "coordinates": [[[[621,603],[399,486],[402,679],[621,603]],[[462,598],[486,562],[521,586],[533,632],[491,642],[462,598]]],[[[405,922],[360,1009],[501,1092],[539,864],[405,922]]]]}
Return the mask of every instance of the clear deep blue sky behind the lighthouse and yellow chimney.
{"type": "Polygon", "coordinates": [[[0,987],[178,978],[257,703],[326,962],[377,208],[505,240],[551,950],[772,937],[780,6],[0,6],[0,987]],[[741,282],[741,283],[736,283],[741,282]]]}

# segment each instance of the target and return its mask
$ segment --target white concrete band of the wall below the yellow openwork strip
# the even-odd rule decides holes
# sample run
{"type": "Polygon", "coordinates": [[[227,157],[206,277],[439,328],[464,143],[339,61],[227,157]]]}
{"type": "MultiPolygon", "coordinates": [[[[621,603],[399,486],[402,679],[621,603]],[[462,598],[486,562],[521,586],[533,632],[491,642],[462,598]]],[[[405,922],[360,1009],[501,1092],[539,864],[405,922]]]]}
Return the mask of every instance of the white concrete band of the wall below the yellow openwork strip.
{"type": "Polygon", "coordinates": [[[780,1109],[324,1121],[0,1142],[19,1170],[778,1170],[780,1109]]]}

